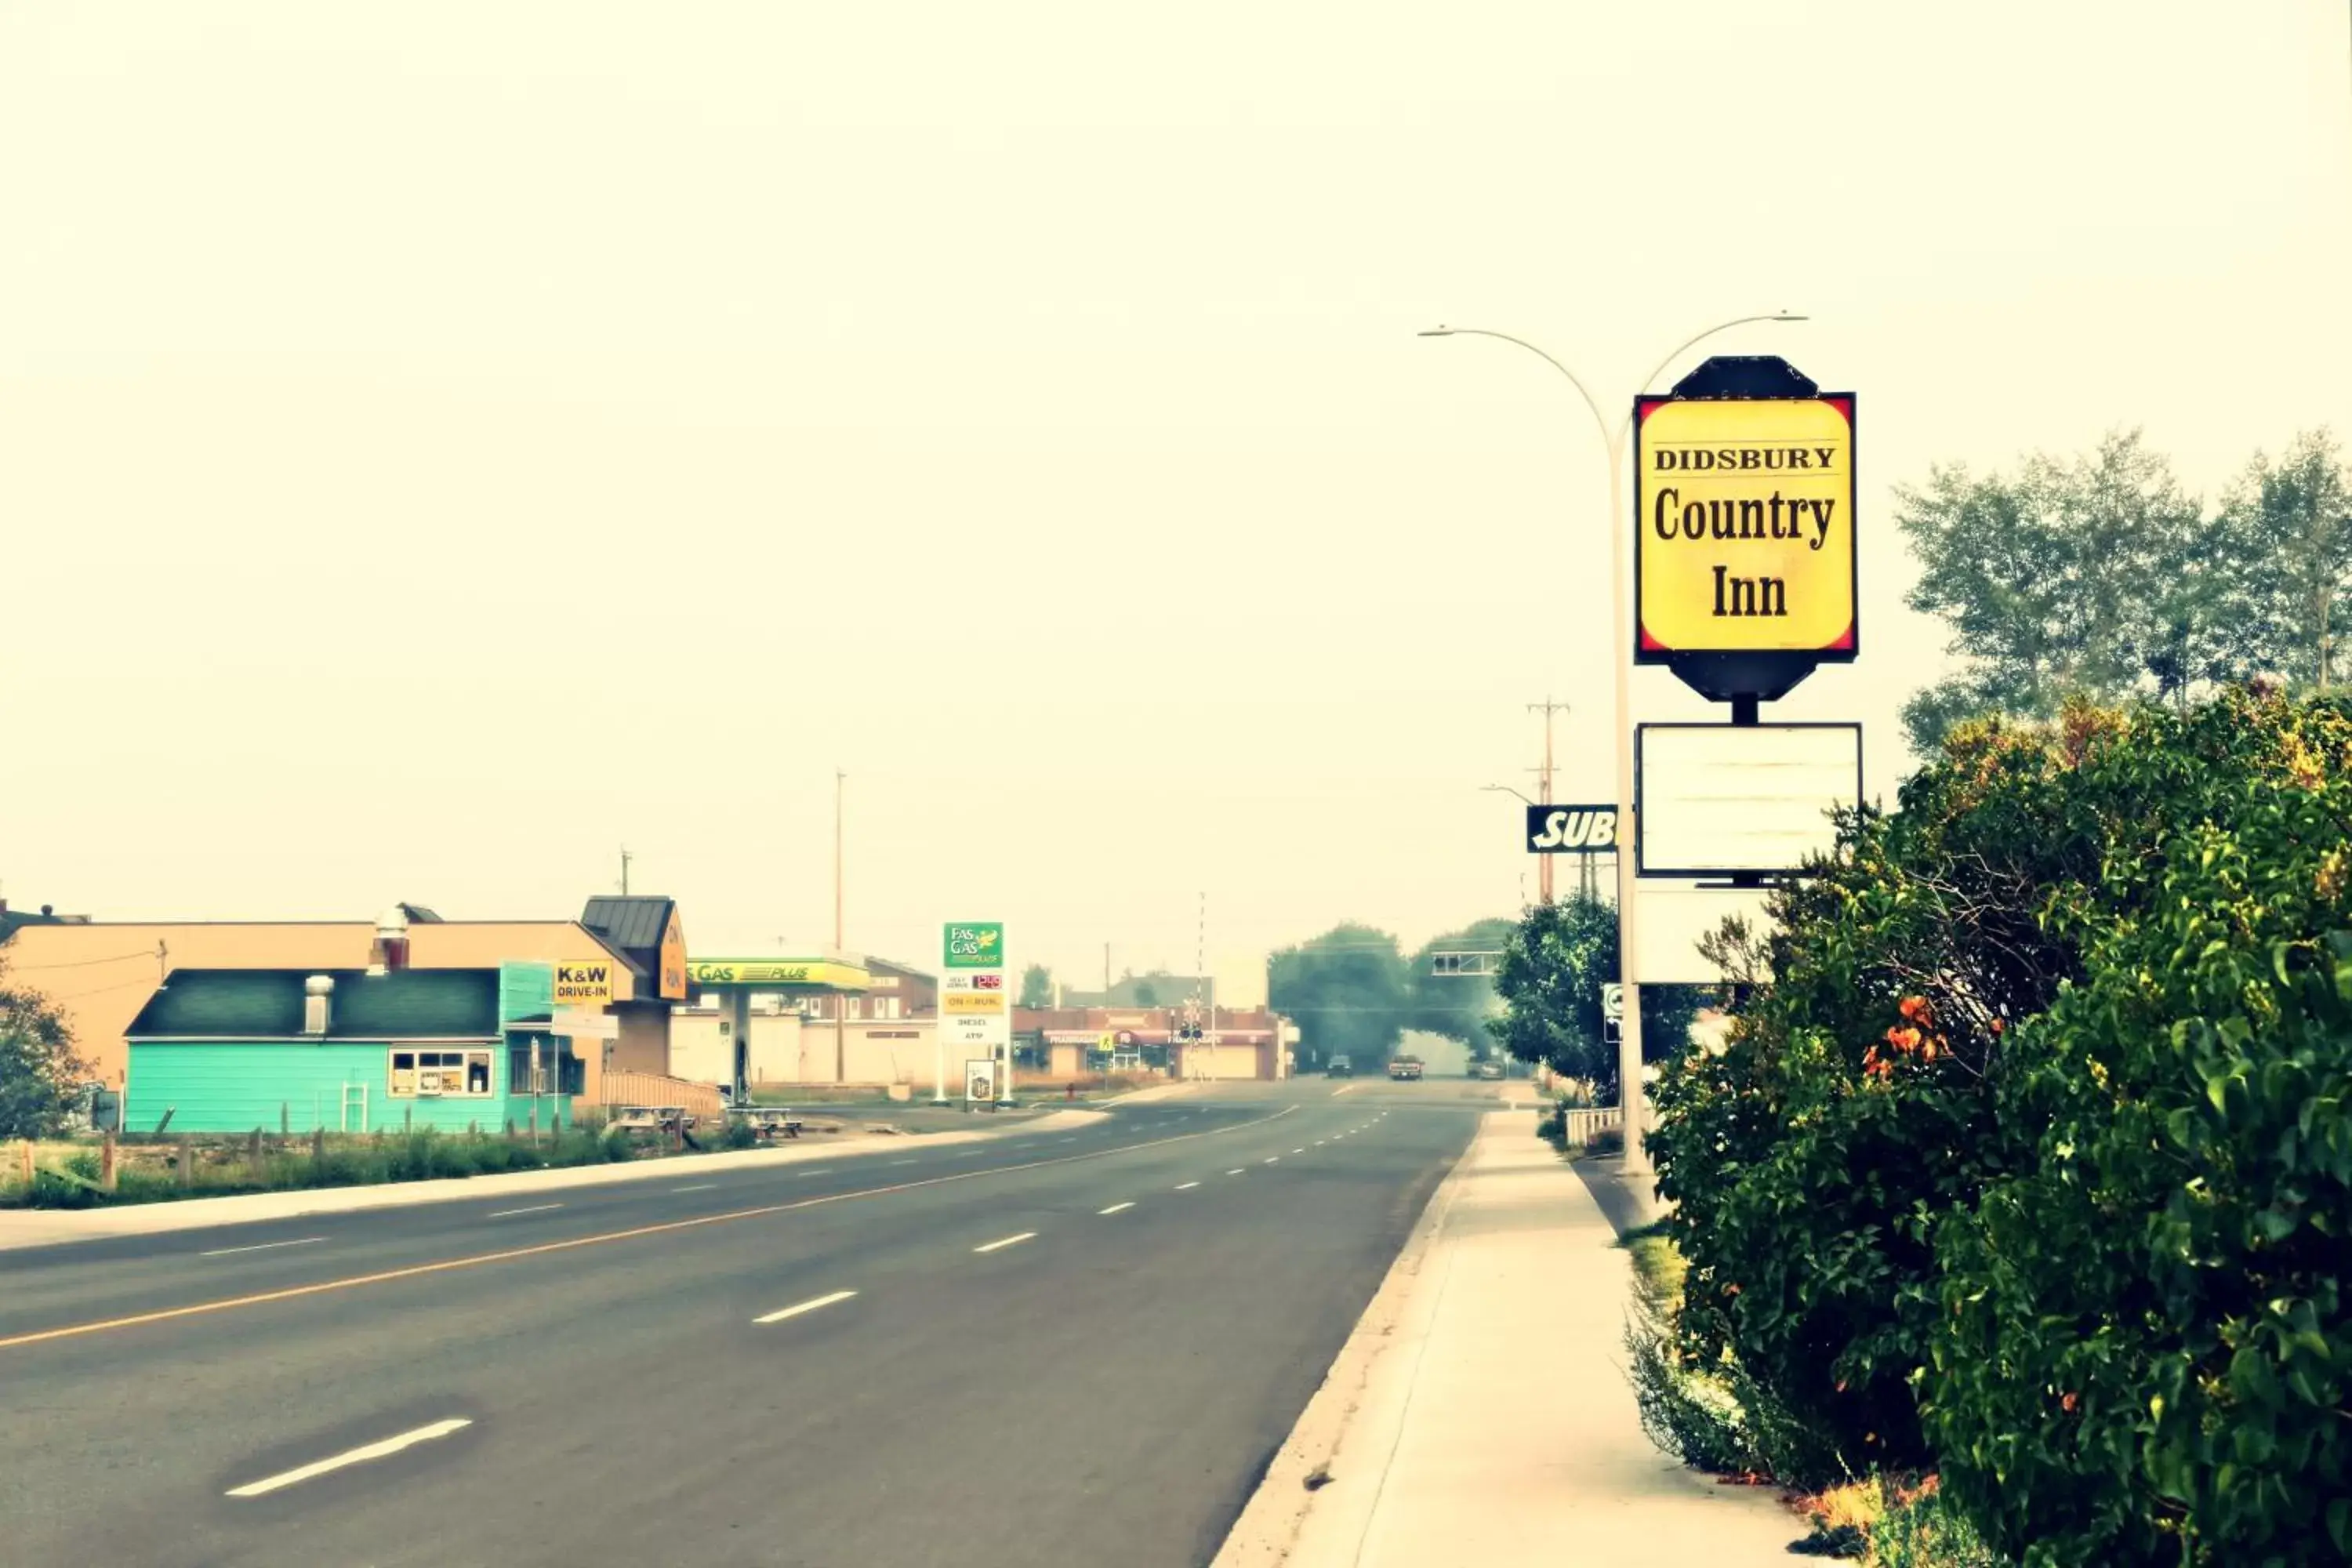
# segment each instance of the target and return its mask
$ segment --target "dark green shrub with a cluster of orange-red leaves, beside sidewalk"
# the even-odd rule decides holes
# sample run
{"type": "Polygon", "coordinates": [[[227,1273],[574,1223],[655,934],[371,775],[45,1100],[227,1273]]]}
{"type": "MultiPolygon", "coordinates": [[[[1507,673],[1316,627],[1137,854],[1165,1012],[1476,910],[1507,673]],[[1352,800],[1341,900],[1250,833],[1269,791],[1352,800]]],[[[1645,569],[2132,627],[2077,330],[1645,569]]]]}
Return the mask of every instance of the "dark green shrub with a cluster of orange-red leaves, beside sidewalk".
{"type": "Polygon", "coordinates": [[[1783,1481],[1931,1458],[1910,1378],[1936,1316],[1933,1227],[2002,1161],[1985,1088],[2002,1020],[2070,971],[2034,922],[2039,889],[2086,860],[2058,820],[2063,771],[2049,738],[1978,729],[1898,813],[1846,818],[1837,856],[1773,893],[1773,985],[1661,1074],[1686,1352],[1743,1366],[1837,1455],[1783,1481]],[[1936,1060],[1882,1077],[1915,997],[1936,1060]]]}

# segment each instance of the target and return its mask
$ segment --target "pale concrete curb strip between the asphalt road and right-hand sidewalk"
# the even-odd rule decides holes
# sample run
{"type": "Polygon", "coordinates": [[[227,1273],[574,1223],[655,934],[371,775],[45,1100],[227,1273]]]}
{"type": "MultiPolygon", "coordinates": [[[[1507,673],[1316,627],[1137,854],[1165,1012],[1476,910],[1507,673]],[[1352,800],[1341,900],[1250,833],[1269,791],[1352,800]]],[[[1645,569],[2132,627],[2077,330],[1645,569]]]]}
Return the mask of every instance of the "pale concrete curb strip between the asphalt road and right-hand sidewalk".
{"type": "MultiPolygon", "coordinates": [[[[1242,1516],[1232,1521],[1211,1568],[1268,1568],[1289,1561],[1310,1512],[1317,1519],[1371,1521],[1371,1509],[1381,1500],[1378,1476],[1404,1425],[1406,1403],[1402,1396],[1390,1399],[1374,1389],[1374,1375],[1378,1373],[1397,1389],[1409,1389],[1409,1366],[1402,1368],[1404,1378],[1390,1380],[1388,1373],[1399,1361],[1418,1359],[1428,1338],[1444,1279],[1425,1279],[1423,1265],[1444,1234],[1482,1138],[1484,1131],[1470,1140],[1437,1192],[1430,1194],[1421,1220],[1414,1222],[1404,1248],[1388,1267],[1388,1276],[1374,1291],[1371,1305],[1364,1307],[1364,1316],[1357,1319],[1348,1342],[1331,1361],[1331,1371],[1324,1373],[1322,1387],[1308,1399],[1298,1425],[1291,1427],[1265,1467],[1258,1490],[1242,1507],[1242,1516]],[[1350,1486],[1317,1483],[1310,1490],[1308,1481],[1317,1474],[1327,1481],[1345,1474],[1350,1486]]],[[[1352,1537],[1359,1535],[1362,1528],[1352,1530],[1352,1537]]]]}

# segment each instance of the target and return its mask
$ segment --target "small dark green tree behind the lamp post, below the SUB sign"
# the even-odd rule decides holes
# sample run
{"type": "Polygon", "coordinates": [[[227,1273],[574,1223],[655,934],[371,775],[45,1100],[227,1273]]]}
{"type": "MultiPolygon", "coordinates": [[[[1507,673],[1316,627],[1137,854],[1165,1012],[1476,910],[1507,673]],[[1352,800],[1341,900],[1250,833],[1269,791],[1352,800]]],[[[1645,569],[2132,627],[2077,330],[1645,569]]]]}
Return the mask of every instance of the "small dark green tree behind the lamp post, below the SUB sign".
{"type": "MultiPolygon", "coordinates": [[[[1616,905],[1578,893],[1534,905],[1503,943],[1494,987],[1505,1001],[1489,1034],[1522,1063],[1585,1079],[1595,1098],[1616,1103],[1618,1053],[1602,1027],[1602,985],[1618,978],[1616,905]]],[[[1691,1039],[1700,990],[1642,987],[1642,1060],[1677,1056],[1691,1039]]]]}

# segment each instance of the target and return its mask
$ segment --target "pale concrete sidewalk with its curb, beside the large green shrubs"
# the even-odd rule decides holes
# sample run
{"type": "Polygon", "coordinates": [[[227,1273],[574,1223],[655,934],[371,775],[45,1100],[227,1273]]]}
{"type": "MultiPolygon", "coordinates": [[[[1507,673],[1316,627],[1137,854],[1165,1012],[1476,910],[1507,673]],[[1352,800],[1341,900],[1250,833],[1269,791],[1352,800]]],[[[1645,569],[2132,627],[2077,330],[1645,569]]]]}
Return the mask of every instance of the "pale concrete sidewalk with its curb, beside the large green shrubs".
{"type": "Polygon", "coordinates": [[[1430,1199],[1216,1568],[1788,1563],[1778,1497],[1642,1434],[1632,1265],[1524,1112],[1430,1199]]]}

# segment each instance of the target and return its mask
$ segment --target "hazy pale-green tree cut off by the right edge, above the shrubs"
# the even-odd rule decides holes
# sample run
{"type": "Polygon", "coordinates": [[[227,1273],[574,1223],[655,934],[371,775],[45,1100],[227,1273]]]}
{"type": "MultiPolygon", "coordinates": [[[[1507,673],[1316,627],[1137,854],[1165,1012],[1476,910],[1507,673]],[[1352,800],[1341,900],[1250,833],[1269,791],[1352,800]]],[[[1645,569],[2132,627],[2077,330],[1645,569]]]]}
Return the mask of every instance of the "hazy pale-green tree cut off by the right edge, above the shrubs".
{"type": "Polygon", "coordinates": [[[2277,461],[2256,454],[2223,501],[2220,527],[2239,564],[2246,663],[2298,684],[2340,679],[2352,473],[2336,437],[2305,430],[2277,461]]]}

